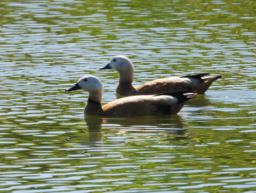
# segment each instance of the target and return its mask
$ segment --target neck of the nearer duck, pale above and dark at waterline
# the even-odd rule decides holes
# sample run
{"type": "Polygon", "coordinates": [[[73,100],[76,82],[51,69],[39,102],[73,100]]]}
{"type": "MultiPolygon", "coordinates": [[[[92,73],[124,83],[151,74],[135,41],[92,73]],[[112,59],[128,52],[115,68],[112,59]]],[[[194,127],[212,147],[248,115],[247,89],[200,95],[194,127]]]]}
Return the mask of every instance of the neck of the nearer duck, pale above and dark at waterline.
{"type": "Polygon", "coordinates": [[[84,108],[85,115],[95,115],[95,116],[102,116],[103,109],[101,107],[101,97],[102,94],[94,94],[90,93],[86,106],[84,108]]]}

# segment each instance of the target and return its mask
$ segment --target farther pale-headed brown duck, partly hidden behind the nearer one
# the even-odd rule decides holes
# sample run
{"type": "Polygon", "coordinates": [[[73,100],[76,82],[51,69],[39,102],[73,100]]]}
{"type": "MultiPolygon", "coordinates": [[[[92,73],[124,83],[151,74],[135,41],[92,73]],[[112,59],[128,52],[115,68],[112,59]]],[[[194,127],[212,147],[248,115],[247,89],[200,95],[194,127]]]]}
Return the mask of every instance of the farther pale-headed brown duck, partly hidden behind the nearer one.
{"type": "Polygon", "coordinates": [[[114,69],[119,72],[119,84],[116,93],[123,96],[158,94],[172,91],[195,90],[203,94],[211,83],[222,75],[208,76],[209,73],[186,75],[180,77],[167,77],[149,81],[139,86],[133,86],[134,65],[126,56],[113,56],[109,63],[100,70],[114,69]]]}

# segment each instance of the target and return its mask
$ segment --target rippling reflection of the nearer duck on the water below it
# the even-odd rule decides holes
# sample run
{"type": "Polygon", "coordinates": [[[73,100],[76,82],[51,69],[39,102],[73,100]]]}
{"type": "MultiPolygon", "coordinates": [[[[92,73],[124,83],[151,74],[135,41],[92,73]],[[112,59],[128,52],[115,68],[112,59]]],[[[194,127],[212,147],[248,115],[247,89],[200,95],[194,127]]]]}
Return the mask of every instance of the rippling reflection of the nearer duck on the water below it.
{"type": "MultiPolygon", "coordinates": [[[[85,115],[84,121],[87,127],[86,137],[80,137],[81,144],[89,147],[83,154],[90,157],[102,156],[105,152],[104,140],[111,140],[115,145],[126,144],[130,139],[140,139],[169,136],[165,140],[186,138],[186,122],[179,115],[148,116],[148,117],[99,117],[85,115]],[[103,134],[105,133],[105,135],[103,134]],[[107,135],[106,135],[107,133],[107,135]],[[114,139],[108,138],[114,136],[114,139]],[[124,136],[127,136],[128,139],[124,136]],[[131,137],[131,138],[130,138],[131,137]]],[[[83,134],[82,134],[83,135],[83,134]]]]}

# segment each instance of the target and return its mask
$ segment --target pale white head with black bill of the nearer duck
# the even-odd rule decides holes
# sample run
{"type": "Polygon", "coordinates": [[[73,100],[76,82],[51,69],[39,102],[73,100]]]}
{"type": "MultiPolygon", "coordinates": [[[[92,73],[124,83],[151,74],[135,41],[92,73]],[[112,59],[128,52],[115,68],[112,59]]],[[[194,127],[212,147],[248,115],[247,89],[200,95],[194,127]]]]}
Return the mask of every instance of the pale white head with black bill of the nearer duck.
{"type": "Polygon", "coordinates": [[[96,76],[84,76],[80,78],[74,86],[66,89],[65,91],[75,91],[79,89],[89,92],[89,98],[96,101],[101,101],[103,94],[103,84],[96,76]]]}

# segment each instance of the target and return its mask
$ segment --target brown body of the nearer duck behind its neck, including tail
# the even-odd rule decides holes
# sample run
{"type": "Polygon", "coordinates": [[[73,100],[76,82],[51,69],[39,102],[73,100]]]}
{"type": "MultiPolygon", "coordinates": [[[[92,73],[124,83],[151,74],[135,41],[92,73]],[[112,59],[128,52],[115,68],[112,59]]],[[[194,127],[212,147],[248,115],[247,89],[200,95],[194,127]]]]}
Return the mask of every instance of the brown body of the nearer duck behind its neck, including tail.
{"type": "Polygon", "coordinates": [[[195,91],[169,92],[156,95],[128,96],[104,105],[104,116],[132,117],[177,114],[195,91]]]}

